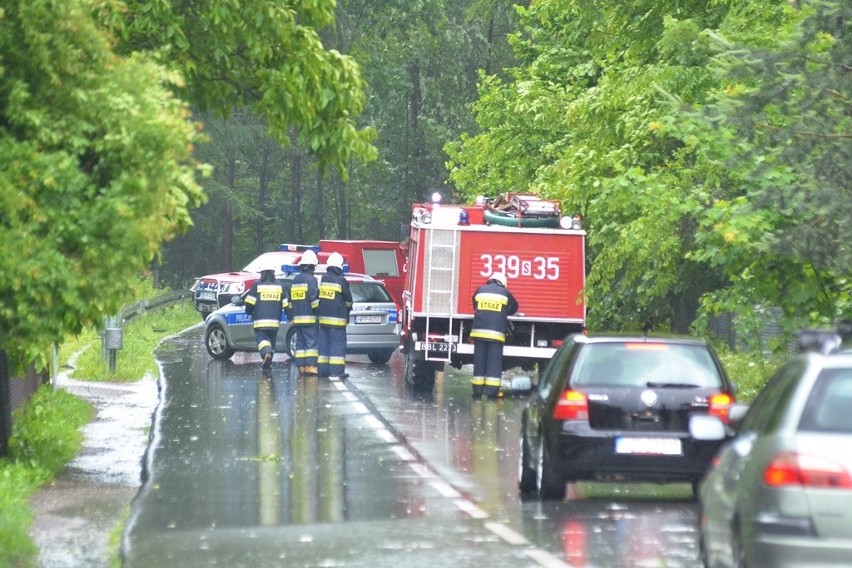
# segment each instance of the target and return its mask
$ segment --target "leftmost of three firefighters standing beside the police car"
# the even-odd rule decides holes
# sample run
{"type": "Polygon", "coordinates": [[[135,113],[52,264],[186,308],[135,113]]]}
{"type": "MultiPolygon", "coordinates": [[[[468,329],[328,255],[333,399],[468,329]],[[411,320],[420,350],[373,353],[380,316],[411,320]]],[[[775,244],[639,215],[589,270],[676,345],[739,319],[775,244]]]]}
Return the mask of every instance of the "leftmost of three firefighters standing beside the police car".
{"type": "Polygon", "coordinates": [[[281,327],[281,311],[287,307],[284,287],[275,279],[275,267],[260,271],[260,280],[252,284],[246,295],[246,313],[251,316],[257,350],[263,361],[263,371],[272,368],[275,339],[281,327]]]}

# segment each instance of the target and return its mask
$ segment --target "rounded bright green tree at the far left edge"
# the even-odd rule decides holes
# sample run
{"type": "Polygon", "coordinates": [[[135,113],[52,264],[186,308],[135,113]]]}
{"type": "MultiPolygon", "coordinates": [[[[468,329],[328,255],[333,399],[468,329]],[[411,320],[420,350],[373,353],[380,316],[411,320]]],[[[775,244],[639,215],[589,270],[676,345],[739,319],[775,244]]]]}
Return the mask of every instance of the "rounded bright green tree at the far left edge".
{"type": "Polygon", "coordinates": [[[19,363],[117,310],[202,201],[179,76],[117,56],[89,8],[0,15],[0,349],[19,363]]]}

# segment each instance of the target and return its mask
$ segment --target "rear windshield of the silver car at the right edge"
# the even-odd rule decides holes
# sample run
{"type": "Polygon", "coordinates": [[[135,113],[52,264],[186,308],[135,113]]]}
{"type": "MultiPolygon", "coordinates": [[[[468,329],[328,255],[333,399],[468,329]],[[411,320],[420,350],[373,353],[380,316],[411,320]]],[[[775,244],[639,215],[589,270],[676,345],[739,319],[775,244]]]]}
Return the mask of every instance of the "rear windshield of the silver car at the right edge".
{"type": "Polygon", "coordinates": [[[852,369],[825,369],[811,391],[800,430],[852,433],[852,369]]]}

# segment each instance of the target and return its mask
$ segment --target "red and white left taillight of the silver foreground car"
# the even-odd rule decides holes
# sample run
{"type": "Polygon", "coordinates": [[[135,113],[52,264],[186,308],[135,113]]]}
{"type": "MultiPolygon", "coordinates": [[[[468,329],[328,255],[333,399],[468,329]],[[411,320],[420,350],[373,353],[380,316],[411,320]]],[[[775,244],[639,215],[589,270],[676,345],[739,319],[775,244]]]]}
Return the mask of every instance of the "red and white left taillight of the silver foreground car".
{"type": "Polygon", "coordinates": [[[781,452],[763,470],[763,482],[772,487],[800,485],[852,489],[852,476],[831,460],[796,452],[781,452]]]}

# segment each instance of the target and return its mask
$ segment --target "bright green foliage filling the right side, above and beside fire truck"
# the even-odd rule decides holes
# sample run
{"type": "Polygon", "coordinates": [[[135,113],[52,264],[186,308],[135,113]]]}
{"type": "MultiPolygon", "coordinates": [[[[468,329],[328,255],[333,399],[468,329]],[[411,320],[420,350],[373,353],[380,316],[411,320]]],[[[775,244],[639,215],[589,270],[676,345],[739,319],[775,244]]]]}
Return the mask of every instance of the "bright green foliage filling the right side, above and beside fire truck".
{"type": "MultiPolygon", "coordinates": [[[[584,216],[594,327],[686,331],[776,306],[850,309],[848,3],[536,2],[480,132],[468,197],[534,191],[584,216]]],[[[740,321],[749,321],[743,317],[740,321]]]]}

